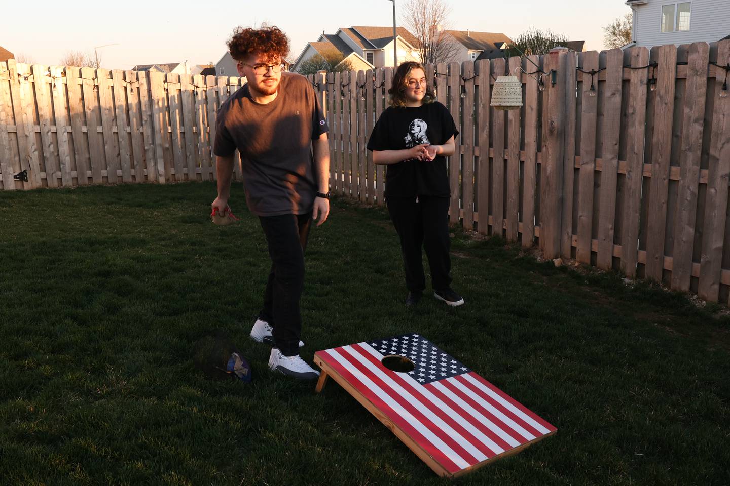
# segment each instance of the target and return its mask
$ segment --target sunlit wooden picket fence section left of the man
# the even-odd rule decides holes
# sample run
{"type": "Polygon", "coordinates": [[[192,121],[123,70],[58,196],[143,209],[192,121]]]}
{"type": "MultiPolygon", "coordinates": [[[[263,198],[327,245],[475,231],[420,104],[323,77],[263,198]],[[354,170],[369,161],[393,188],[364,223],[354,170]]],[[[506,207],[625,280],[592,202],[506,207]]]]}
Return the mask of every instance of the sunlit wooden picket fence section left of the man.
{"type": "Polygon", "coordinates": [[[215,116],[239,86],[239,78],[0,63],[0,187],[215,179],[215,116]],[[28,181],[14,178],[23,171],[28,181]]]}

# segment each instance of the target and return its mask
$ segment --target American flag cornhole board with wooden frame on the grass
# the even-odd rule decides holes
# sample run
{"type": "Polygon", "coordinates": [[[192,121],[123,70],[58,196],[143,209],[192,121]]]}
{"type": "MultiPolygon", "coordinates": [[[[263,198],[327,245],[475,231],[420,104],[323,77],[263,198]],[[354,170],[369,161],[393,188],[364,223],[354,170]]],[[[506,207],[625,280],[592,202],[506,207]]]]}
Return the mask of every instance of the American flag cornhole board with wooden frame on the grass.
{"type": "Polygon", "coordinates": [[[420,334],[317,351],[314,361],[322,369],[315,391],[332,377],[443,477],[474,471],[557,431],[420,334]],[[393,371],[393,361],[415,368],[393,371]]]}

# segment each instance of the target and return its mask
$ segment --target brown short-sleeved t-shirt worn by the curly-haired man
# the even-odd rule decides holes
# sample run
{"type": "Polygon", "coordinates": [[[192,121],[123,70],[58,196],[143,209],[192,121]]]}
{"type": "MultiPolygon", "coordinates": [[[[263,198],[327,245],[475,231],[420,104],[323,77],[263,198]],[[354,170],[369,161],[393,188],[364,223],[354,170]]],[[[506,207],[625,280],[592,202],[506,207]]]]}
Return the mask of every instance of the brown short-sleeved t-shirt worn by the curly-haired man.
{"type": "Polygon", "coordinates": [[[243,85],[218,110],[213,152],[241,154],[246,203],[257,216],[312,211],[317,179],[312,140],[328,131],[307,78],[282,73],[278,95],[262,105],[243,85]]]}

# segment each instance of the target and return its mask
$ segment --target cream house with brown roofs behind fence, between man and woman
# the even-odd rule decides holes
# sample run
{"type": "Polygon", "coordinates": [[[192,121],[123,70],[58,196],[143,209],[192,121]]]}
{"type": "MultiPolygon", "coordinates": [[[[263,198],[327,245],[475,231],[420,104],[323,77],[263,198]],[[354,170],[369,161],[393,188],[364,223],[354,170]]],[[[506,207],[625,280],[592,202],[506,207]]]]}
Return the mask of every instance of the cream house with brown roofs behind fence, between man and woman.
{"type": "MultiPolygon", "coordinates": [[[[398,62],[417,60],[416,40],[413,34],[406,28],[399,27],[396,29],[396,36],[398,62]]],[[[333,52],[333,50],[350,60],[355,69],[393,66],[394,47],[392,27],[341,27],[335,34],[323,32],[317,41],[309,42],[296,58],[292,71],[296,71],[302,61],[310,59],[316,54],[333,52]]]]}

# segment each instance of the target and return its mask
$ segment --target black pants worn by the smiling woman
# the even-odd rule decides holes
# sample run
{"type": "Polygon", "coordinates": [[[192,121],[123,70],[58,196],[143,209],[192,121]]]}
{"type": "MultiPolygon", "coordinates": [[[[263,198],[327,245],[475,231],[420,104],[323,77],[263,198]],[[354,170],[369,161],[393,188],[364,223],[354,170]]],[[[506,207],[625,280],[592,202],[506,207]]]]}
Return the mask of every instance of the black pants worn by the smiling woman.
{"type": "Polygon", "coordinates": [[[426,249],[431,268],[431,285],[435,290],[450,286],[451,258],[449,256],[449,198],[418,196],[388,198],[388,212],[401,240],[401,254],[410,291],[426,289],[421,247],[426,249]]]}

